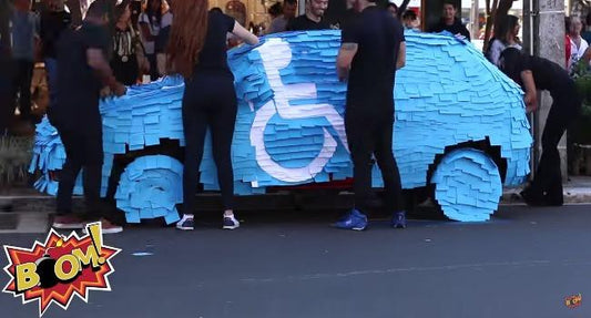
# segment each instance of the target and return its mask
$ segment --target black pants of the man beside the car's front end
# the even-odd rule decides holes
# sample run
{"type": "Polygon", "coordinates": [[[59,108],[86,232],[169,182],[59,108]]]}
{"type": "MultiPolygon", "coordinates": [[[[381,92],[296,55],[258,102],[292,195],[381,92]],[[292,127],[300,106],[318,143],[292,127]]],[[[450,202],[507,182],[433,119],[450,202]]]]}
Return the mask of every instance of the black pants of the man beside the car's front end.
{"type": "Polygon", "coordinates": [[[83,185],[89,216],[102,216],[100,201],[103,140],[100,125],[85,129],[67,129],[58,125],[65,148],[65,163],[60,173],[58,188],[58,215],[72,213],[72,193],[80,170],[83,168],[83,185]]]}

